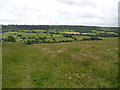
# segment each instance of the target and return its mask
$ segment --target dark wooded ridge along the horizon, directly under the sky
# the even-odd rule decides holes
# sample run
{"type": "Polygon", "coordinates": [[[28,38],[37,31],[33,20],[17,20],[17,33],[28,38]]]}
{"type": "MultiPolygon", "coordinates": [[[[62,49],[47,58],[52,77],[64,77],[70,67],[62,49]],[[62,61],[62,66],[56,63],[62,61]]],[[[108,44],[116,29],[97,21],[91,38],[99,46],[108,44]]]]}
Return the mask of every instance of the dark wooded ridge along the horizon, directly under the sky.
{"type": "Polygon", "coordinates": [[[117,27],[97,27],[97,26],[73,26],[73,25],[2,25],[3,31],[13,31],[13,30],[33,30],[33,29],[43,29],[43,30],[50,30],[50,29],[57,29],[57,30],[64,30],[64,29],[71,29],[75,32],[84,32],[87,33],[90,30],[97,30],[97,31],[107,31],[107,32],[116,32],[118,33],[117,27]]]}

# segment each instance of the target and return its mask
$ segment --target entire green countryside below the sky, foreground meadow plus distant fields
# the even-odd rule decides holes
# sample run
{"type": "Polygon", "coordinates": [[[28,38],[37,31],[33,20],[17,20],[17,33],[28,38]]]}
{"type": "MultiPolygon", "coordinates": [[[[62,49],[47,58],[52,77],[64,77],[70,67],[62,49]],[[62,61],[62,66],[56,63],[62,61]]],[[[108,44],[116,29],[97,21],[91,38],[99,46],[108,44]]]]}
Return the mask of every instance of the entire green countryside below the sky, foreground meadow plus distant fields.
{"type": "Polygon", "coordinates": [[[39,27],[3,27],[3,88],[118,87],[116,28],[39,27]]]}

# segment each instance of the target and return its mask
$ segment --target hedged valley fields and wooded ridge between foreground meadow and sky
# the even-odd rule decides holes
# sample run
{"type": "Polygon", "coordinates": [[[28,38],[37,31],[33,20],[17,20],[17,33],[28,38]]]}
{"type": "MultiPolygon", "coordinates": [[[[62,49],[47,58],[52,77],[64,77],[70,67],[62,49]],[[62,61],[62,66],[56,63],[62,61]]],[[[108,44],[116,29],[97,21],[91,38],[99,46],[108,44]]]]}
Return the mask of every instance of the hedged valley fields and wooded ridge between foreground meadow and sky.
{"type": "Polygon", "coordinates": [[[117,28],[88,26],[3,25],[3,41],[13,36],[17,42],[58,43],[118,38],[117,28]],[[100,37],[100,38],[99,38],[100,37]]]}

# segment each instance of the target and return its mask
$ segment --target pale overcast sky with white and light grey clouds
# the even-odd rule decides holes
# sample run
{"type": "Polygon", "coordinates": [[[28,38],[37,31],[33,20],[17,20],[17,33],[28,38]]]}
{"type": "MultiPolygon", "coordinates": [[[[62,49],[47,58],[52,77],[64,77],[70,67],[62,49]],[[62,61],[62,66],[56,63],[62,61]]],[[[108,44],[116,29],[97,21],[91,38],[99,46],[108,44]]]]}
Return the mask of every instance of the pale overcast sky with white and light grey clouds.
{"type": "Polygon", "coordinates": [[[0,0],[0,24],[117,26],[119,0],[0,0]]]}

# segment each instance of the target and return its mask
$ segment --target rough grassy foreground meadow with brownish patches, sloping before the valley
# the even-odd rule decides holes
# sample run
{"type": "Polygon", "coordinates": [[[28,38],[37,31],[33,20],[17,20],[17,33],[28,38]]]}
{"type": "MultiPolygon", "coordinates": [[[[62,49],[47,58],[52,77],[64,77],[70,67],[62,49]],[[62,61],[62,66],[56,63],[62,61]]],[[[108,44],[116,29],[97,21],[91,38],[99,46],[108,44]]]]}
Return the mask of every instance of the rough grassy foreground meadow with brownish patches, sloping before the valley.
{"type": "Polygon", "coordinates": [[[3,88],[116,88],[118,40],[3,43],[3,88]]]}

